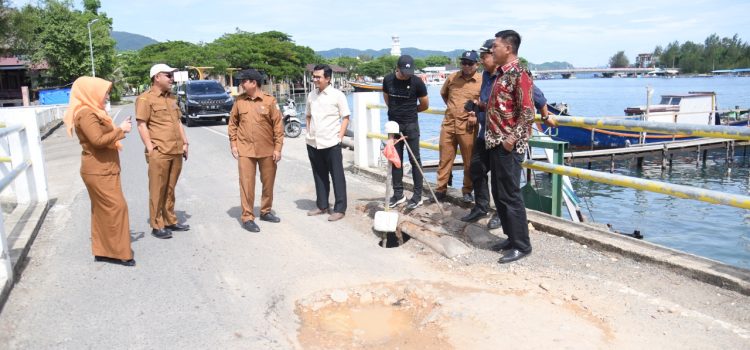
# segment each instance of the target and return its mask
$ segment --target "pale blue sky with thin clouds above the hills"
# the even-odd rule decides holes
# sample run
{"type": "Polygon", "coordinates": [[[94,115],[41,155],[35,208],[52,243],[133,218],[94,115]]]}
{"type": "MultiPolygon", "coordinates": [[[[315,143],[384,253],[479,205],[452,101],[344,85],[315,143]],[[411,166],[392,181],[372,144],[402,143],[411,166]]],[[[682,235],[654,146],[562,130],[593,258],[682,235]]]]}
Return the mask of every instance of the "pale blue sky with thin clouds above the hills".
{"type": "MultiPolygon", "coordinates": [[[[33,0],[11,0],[18,6],[33,0]]],[[[278,30],[298,45],[384,49],[477,49],[504,29],[521,34],[519,55],[533,63],[608,64],[618,51],[631,62],[673,41],[703,42],[738,34],[750,41],[747,0],[101,0],[113,30],[157,41],[211,42],[237,29],[278,30]]],[[[75,0],[79,8],[82,1],[75,0]]]]}

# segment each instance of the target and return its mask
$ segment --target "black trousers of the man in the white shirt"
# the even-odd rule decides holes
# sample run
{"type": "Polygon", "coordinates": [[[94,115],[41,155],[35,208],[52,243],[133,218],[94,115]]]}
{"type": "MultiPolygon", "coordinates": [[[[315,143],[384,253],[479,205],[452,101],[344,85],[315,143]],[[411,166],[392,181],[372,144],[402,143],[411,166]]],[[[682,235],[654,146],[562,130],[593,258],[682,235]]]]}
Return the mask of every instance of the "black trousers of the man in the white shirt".
{"type": "Polygon", "coordinates": [[[331,182],[333,182],[335,198],[333,211],[346,213],[346,178],[344,177],[341,144],[324,149],[308,145],[307,156],[310,158],[313,179],[315,179],[315,205],[318,209],[328,209],[328,196],[331,193],[331,182]],[[329,174],[331,175],[330,182],[328,181],[329,174]]]}

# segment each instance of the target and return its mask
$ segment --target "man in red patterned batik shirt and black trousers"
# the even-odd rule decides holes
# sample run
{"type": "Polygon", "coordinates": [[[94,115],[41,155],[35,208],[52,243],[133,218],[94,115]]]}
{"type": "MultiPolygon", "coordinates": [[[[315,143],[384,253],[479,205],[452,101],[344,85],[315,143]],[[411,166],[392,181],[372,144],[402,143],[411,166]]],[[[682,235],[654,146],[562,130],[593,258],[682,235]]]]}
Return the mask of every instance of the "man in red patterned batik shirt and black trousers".
{"type": "Polygon", "coordinates": [[[495,34],[492,54],[497,78],[490,97],[480,109],[486,110],[485,145],[490,160],[490,181],[503,233],[508,236],[499,247],[504,251],[499,263],[508,263],[531,254],[526,208],[521,194],[521,174],[534,121],[531,73],[518,62],[521,36],[513,30],[495,34]],[[484,107],[484,108],[481,108],[484,107]]]}

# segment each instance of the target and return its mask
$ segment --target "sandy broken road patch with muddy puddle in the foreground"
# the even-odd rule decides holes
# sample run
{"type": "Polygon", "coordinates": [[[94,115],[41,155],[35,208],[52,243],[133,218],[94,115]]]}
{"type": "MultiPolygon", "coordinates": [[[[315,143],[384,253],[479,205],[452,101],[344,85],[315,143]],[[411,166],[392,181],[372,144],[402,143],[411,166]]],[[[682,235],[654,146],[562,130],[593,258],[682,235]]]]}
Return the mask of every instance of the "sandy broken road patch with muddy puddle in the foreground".
{"type": "Polygon", "coordinates": [[[320,291],[296,303],[304,349],[611,348],[614,332],[551,292],[402,281],[320,291]],[[540,332],[539,325],[544,325],[540,332]]]}

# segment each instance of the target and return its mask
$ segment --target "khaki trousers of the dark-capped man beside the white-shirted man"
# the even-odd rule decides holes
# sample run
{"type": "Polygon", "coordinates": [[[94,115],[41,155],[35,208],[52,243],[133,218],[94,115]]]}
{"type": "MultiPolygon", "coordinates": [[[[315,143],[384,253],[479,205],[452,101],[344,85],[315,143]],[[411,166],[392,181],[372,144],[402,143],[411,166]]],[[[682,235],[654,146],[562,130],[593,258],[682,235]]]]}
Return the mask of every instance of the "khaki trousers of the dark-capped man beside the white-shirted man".
{"type": "Polygon", "coordinates": [[[276,162],[273,157],[251,158],[237,157],[240,172],[240,202],[242,203],[242,222],[255,220],[255,171],[260,168],[260,183],[263,190],[260,197],[260,214],[271,212],[273,205],[273,183],[276,180],[276,162]]]}

